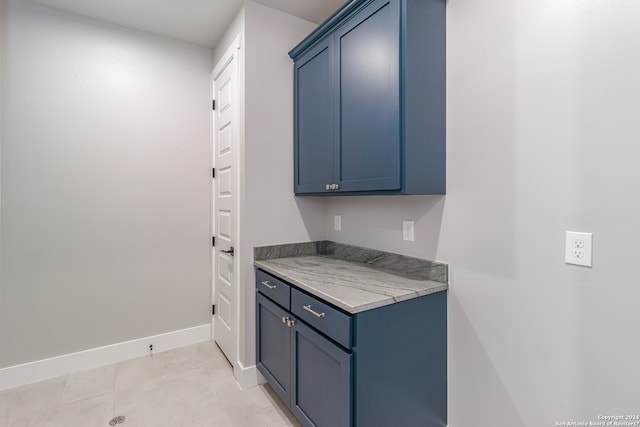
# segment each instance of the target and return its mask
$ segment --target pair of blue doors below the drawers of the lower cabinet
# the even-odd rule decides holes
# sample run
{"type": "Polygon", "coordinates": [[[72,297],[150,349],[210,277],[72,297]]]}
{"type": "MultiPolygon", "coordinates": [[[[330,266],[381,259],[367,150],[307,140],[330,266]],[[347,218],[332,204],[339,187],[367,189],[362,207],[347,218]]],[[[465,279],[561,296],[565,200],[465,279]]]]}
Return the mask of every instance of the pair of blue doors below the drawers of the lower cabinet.
{"type": "Polygon", "coordinates": [[[303,425],[352,425],[351,353],[261,293],[256,331],[258,370],[303,425]]]}

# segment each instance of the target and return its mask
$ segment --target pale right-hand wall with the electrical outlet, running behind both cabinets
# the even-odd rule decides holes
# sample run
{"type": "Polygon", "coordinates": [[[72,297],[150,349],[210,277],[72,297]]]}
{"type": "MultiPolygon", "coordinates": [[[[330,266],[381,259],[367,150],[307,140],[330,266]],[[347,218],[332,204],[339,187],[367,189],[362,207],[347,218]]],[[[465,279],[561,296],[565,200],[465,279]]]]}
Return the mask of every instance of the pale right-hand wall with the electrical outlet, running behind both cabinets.
{"type": "Polygon", "coordinates": [[[447,7],[447,195],[332,198],[328,237],[450,263],[450,426],[637,414],[640,4],[447,7]]]}

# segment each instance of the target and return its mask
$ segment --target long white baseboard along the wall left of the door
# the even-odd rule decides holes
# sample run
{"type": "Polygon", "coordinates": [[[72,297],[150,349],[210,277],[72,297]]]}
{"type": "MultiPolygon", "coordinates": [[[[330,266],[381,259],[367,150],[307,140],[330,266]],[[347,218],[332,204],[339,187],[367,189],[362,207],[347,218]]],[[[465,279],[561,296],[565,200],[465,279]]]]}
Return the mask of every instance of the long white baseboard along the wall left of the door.
{"type": "Polygon", "coordinates": [[[149,344],[153,344],[154,353],[159,353],[210,339],[211,325],[206,324],[9,366],[0,369],[0,390],[146,356],[149,354],[149,344]]]}

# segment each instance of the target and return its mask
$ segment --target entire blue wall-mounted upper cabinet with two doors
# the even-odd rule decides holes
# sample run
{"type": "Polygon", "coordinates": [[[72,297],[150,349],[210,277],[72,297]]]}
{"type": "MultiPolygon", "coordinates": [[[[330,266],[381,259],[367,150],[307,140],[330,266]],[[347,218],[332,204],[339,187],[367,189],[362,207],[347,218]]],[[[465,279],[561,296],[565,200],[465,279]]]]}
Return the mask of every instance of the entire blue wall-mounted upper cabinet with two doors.
{"type": "Polygon", "coordinates": [[[445,193],[445,0],[352,0],[289,56],[297,195],[445,193]]]}

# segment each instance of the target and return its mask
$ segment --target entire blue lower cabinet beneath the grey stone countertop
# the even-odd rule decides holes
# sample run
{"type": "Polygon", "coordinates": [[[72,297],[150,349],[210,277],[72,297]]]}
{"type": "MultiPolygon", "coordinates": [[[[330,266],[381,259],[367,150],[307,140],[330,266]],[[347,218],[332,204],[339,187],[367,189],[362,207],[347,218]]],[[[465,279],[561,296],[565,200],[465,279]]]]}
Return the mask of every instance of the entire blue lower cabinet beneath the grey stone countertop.
{"type": "Polygon", "coordinates": [[[258,370],[302,425],[446,427],[446,292],[349,314],[256,286],[258,370]]]}

